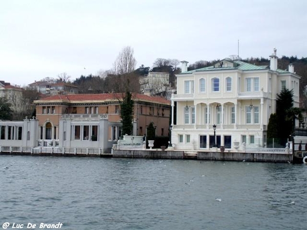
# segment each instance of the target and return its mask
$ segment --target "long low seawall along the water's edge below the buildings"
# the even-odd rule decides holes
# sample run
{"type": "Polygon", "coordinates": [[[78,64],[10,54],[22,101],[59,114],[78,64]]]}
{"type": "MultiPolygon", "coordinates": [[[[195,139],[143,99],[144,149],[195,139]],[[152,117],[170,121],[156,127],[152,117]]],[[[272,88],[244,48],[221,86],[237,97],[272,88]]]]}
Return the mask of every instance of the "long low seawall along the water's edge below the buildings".
{"type": "Polygon", "coordinates": [[[224,160],[246,162],[293,163],[293,154],[285,153],[246,153],[246,152],[204,152],[204,151],[162,151],[162,150],[113,150],[112,153],[100,151],[76,150],[38,152],[38,151],[2,151],[1,155],[31,155],[31,156],[75,156],[75,157],[117,157],[117,158],[151,158],[151,159],[194,159],[194,160],[224,160]]]}

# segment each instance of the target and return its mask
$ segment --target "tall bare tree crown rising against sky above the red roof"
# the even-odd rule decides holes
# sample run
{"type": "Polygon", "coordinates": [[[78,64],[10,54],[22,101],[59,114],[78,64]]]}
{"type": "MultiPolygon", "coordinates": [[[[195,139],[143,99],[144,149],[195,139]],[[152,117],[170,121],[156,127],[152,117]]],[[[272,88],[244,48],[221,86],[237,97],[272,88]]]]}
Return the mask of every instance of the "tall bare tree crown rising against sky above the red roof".
{"type": "Polygon", "coordinates": [[[114,62],[114,71],[117,75],[129,74],[135,70],[137,61],[134,58],[134,50],[124,47],[114,62]]]}

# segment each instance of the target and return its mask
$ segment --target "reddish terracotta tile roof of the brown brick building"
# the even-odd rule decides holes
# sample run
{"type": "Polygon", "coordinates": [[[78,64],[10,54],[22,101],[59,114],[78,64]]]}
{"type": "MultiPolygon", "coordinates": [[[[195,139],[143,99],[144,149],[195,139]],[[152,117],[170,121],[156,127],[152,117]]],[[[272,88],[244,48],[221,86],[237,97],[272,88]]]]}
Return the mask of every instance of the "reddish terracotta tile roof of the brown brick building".
{"type": "MultiPolygon", "coordinates": [[[[34,102],[41,103],[48,101],[65,101],[65,102],[117,101],[120,98],[122,98],[122,94],[68,94],[68,95],[54,95],[34,102]]],[[[165,98],[151,97],[143,94],[134,95],[133,100],[170,105],[170,101],[165,98]]]]}

